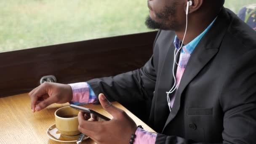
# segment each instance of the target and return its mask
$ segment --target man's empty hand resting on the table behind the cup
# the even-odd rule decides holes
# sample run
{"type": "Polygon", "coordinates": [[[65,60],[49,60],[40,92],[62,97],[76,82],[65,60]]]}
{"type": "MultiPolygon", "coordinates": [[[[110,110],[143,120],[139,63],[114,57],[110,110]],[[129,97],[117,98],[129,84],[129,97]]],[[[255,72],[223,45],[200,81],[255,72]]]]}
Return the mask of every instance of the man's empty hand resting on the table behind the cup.
{"type": "Polygon", "coordinates": [[[40,111],[53,103],[66,103],[72,100],[70,85],[43,83],[29,93],[32,112],[40,111]]]}

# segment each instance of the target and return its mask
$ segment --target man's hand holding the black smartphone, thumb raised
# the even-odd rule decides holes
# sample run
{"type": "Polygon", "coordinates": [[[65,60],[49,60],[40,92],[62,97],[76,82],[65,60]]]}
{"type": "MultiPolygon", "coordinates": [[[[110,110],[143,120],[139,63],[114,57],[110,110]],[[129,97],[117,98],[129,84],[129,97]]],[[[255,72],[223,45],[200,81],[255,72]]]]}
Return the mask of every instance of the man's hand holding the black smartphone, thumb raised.
{"type": "Polygon", "coordinates": [[[88,121],[83,112],[79,112],[78,130],[90,136],[97,144],[128,144],[134,134],[136,123],[123,110],[113,106],[103,94],[99,94],[102,107],[113,118],[109,121],[88,121]]]}

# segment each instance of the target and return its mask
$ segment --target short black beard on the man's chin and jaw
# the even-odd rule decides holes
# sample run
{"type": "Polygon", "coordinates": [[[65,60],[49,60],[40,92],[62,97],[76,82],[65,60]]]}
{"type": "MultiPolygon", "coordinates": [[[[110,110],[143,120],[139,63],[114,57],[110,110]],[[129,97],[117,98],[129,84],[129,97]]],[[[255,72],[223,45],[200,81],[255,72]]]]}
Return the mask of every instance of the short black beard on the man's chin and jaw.
{"type": "Polygon", "coordinates": [[[176,27],[176,2],[170,7],[166,7],[163,12],[156,13],[161,22],[154,21],[150,16],[147,16],[145,24],[149,29],[174,29],[176,27]]]}

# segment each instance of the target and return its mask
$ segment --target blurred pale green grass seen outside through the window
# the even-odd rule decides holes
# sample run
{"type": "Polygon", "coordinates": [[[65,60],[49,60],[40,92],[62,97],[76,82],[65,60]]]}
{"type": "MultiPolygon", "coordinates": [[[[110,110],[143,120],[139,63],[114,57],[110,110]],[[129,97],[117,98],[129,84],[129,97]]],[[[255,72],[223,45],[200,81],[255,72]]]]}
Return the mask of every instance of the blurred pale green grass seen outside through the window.
{"type": "MultiPolygon", "coordinates": [[[[254,0],[226,0],[237,13],[254,0]]],[[[149,31],[146,0],[1,0],[0,52],[149,31]]]]}

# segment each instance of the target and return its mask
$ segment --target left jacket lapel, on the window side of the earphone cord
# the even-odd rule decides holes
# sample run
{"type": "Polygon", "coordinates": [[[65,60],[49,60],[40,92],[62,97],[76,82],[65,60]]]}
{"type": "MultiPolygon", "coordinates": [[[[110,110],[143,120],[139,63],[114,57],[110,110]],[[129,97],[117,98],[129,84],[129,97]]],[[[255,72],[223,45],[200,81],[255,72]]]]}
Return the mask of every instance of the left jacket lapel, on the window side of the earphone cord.
{"type": "MultiPolygon", "coordinates": [[[[155,91],[155,114],[154,115],[154,128],[156,131],[162,131],[164,127],[163,121],[166,121],[170,111],[167,105],[166,91],[169,91],[173,85],[173,58],[175,47],[173,45],[174,36],[171,31],[162,31],[161,36],[165,39],[161,39],[159,46],[160,53],[159,56],[162,56],[160,59],[163,59],[163,64],[159,65],[160,72],[157,72],[159,76],[158,84],[156,85],[155,91]],[[171,37],[170,37],[171,35],[171,37]],[[161,114],[159,117],[158,114],[161,114]]],[[[174,33],[173,33],[174,34],[174,33]]]]}

